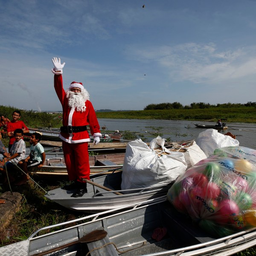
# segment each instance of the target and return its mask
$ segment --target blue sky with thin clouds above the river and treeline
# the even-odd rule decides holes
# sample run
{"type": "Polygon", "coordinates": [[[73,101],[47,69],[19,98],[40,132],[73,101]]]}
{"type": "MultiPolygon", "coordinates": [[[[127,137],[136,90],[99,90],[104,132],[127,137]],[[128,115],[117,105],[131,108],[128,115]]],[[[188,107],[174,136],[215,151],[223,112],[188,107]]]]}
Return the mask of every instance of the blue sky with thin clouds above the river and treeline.
{"type": "Polygon", "coordinates": [[[255,0],[0,0],[0,105],[61,110],[53,57],[95,109],[255,102],[255,12],[255,0]]]}

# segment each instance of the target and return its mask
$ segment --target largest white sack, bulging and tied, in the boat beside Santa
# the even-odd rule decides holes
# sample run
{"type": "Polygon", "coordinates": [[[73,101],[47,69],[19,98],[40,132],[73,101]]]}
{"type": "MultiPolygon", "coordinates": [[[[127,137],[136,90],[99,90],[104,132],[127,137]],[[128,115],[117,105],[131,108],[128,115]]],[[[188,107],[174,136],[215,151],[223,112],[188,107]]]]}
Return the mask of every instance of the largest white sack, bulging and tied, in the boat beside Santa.
{"type": "Polygon", "coordinates": [[[164,186],[183,174],[186,167],[181,152],[158,157],[142,140],[134,140],[126,146],[121,188],[164,186]]]}

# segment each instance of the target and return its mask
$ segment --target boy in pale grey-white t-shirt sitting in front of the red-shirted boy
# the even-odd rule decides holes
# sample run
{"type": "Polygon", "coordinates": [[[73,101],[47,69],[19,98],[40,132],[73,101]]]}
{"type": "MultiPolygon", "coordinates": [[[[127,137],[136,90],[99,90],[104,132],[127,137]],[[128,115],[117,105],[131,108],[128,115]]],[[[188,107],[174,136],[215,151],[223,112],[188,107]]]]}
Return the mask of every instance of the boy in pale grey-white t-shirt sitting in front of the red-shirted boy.
{"type": "MultiPolygon", "coordinates": [[[[15,142],[10,149],[10,157],[5,157],[0,163],[0,171],[3,172],[5,175],[5,182],[7,181],[6,169],[7,171],[14,169],[17,163],[25,158],[26,154],[26,144],[24,140],[22,140],[23,130],[16,129],[13,135],[15,137],[15,142]]],[[[15,180],[15,178],[10,175],[9,172],[8,177],[10,182],[15,180]]]]}

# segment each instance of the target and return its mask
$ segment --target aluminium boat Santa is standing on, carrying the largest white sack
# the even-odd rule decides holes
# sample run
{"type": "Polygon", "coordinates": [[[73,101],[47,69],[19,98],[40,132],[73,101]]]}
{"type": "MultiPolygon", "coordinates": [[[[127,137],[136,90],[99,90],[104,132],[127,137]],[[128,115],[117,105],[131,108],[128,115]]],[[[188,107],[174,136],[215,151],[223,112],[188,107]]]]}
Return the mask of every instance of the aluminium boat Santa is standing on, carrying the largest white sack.
{"type": "Polygon", "coordinates": [[[115,172],[91,179],[94,183],[111,189],[112,192],[98,186],[87,183],[88,192],[80,198],[73,198],[71,195],[75,190],[66,191],[64,189],[54,189],[49,191],[45,197],[56,203],[73,210],[85,212],[101,212],[109,209],[117,209],[134,203],[140,203],[149,198],[166,198],[168,189],[172,184],[151,188],[121,190],[122,172],[115,172]],[[114,192],[121,192],[116,195],[114,192]]]}

